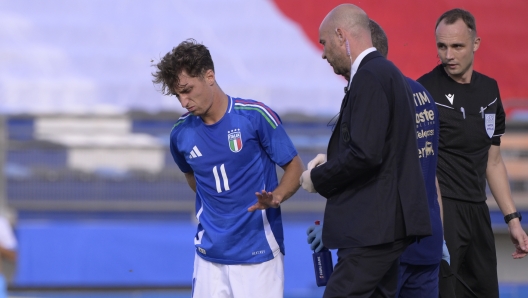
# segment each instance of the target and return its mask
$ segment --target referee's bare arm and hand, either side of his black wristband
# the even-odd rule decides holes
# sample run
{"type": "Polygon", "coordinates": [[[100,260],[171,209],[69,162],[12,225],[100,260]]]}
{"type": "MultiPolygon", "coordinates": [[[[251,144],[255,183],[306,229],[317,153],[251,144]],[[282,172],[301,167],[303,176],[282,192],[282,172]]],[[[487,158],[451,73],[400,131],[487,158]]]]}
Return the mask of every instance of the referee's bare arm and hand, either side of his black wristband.
{"type": "MultiPolygon", "coordinates": [[[[489,149],[486,176],[491,193],[495,201],[497,201],[497,205],[499,205],[502,214],[508,215],[516,212],[517,210],[511,196],[506,166],[502,160],[499,146],[492,145],[489,149]]],[[[508,229],[510,231],[510,238],[515,246],[515,252],[512,254],[513,258],[521,259],[525,257],[528,253],[528,236],[522,229],[519,219],[512,219],[508,223],[508,229]]]]}

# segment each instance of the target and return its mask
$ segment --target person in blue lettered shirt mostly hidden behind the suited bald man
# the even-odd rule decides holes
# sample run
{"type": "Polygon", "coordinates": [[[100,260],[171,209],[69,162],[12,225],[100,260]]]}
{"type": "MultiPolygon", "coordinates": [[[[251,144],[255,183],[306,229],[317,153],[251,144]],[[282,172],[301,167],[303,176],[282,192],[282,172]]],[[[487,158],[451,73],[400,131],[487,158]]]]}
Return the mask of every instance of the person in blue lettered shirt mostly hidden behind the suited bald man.
{"type": "MultiPolygon", "coordinates": [[[[387,57],[389,44],[383,29],[373,20],[369,23],[373,46],[387,57]]],[[[416,108],[416,138],[418,141],[418,156],[425,181],[429,215],[433,234],[420,242],[415,242],[403,252],[400,257],[398,274],[398,291],[396,297],[401,298],[438,298],[439,266],[442,257],[448,260],[448,253],[442,256],[443,232],[441,221],[441,199],[436,187],[436,162],[438,148],[438,111],[429,92],[414,80],[407,78],[413,91],[416,108]]],[[[308,163],[308,169],[324,161],[325,156],[319,155],[308,163]]],[[[324,246],[321,240],[321,228],[310,226],[307,231],[308,243],[312,250],[319,251],[324,246]]]]}

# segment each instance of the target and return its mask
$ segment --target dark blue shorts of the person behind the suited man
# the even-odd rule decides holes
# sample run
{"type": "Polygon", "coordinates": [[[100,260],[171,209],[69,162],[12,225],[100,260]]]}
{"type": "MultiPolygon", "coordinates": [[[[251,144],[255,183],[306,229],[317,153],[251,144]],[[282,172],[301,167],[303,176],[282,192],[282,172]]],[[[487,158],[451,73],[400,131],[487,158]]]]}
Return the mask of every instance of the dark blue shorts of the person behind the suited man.
{"type": "Polygon", "coordinates": [[[400,263],[398,268],[398,298],[438,298],[438,270],[435,265],[400,263]]]}

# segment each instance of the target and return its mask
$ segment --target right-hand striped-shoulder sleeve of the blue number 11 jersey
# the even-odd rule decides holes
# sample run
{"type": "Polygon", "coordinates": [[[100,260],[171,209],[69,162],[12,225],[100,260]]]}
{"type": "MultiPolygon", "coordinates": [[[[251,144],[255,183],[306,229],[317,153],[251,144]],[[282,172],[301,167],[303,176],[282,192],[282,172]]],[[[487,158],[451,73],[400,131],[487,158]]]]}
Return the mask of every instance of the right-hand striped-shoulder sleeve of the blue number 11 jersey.
{"type": "Polygon", "coordinates": [[[284,166],[289,163],[296,155],[297,150],[286,134],[282,121],[269,107],[258,103],[259,113],[255,113],[254,125],[257,131],[260,144],[268,156],[278,164],[284,166]]]}

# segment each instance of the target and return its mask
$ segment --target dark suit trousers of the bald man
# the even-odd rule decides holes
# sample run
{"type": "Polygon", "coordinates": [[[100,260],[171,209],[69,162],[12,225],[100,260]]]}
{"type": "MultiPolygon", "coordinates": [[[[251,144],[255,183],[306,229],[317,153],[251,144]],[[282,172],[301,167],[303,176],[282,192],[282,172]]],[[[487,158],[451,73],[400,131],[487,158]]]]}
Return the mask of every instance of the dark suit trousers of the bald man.
{"type": "Polygon", "coordinates": [[[324,298],[395,297],[399,257],[415,237],[393,243],[341,248],[324,298]]]}

